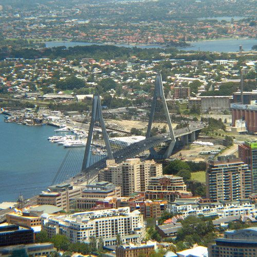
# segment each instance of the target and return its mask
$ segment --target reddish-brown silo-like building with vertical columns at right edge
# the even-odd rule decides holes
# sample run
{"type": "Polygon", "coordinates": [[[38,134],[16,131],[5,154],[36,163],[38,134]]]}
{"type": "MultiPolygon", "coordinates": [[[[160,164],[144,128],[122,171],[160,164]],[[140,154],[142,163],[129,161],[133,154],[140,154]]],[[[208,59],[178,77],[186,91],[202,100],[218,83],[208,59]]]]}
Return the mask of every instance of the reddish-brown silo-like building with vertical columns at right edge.
{"type": "Polygon", "coordinates": [[[255,101],[248,105],[232,103],[231,110],[232,126],[235,126],[236,120],[244,120],[249,133],[257,132],[257,104],[255,101]]]}

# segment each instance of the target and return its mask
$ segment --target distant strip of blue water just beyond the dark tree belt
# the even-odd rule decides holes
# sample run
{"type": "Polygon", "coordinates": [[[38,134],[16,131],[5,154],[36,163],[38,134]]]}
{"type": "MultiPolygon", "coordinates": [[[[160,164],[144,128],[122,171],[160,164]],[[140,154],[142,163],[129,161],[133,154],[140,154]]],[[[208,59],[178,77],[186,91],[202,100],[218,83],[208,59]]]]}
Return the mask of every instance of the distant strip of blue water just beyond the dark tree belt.
{"type": "MultiPolygon", "coordinates": [[[[87,42],[45,42],[46,47],[74,47],[74,46],[89,46],[89,45],[104,45],[87,42]]],[[[228,40],[213,40],[213,41],[199,41],[191,43],[190,47],[181,47],[181,50],[198,50],[200,51],[217,51],[217,52],[236,52],[239,49],[239,45],[243,46],[245,51],[251,50],[253,45],[257,44],[256,39],[228,39],[228,40]]],[[[159,45],[125,45],[116,44],[116,46],[124,47],[138,47],[138,48],[161,48],[159,45]]]]}

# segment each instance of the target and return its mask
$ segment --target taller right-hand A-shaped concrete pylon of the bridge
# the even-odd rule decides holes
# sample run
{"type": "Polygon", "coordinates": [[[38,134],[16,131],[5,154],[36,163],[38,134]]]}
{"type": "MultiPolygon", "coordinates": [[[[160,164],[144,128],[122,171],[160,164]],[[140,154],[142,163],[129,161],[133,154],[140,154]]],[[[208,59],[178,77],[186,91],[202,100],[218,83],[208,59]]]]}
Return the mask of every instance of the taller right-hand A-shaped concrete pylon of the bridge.
{"type": "MultiPolygon", "coordinates": [[[[168,130],[169,130],[168,133],[171,137],[171,141],[169,142],[169,146],[168,146],[166,152],[161,156],[161,158],[169,158],[171,156],[172,150],[174,148],[176,138],[175,138],[174,130],[173,130],[173,127],[172,127],[171,117],[170,117],[168,106],[167,106],[167,103],[166,103],[166,98],[164,96],[161,74],[156,75],[154,97],[153,97],[152,106],[151,106],[148,128],[147,128],[147,131],[146,131],[146,138],[151,137],[151,130],[152,130],[153,122],[154,122],[154,115],[155,115],[155,112],[156,112],[156,105],[157,105],[157,100],[158,99],[160,99],[160,101],[162,103],[164,115],[165,115],[165,118],[166,118],[166,121],[167,121],[167,124],[168,124],[168,130]]],[[[150,153],[154,157],[159,156],[159,154],[153,148],[150,149],[150,153]]]]}

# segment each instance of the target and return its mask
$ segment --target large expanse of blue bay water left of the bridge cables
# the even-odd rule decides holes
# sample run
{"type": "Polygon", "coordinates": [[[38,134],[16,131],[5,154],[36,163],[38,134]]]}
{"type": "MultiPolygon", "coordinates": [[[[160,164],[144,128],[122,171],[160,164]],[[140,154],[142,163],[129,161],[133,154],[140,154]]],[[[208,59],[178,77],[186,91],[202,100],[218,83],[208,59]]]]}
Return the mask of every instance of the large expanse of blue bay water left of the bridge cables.
{"type": "Polygon", "coordinates": [[[68,151],[47,140],[54,129],[6,123],[0,115],[0,203],[20,193],[29,198],[51,184],[68,151]]]}

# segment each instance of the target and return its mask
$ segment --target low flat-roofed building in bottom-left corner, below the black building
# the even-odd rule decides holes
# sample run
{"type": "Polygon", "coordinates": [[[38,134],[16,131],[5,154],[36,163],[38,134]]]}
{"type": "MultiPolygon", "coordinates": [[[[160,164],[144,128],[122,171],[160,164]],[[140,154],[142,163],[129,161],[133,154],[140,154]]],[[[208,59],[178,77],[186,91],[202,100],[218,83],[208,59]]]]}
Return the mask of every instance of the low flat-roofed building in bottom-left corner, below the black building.
{"type": "MultiPolygon", "coordinates": [[[[2,257],[13,256],[13,251],[17,252],[24,250],[27,256],[50,256],[53,252],[56,252],[56,248],[52,243],[36,243],[27,245],[12,245],[0,247],[0,255],[2,257]]],[[[17,256],[17,255],[16,255],[17,256]]]]}

